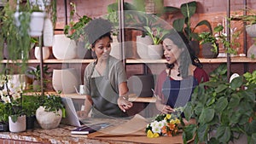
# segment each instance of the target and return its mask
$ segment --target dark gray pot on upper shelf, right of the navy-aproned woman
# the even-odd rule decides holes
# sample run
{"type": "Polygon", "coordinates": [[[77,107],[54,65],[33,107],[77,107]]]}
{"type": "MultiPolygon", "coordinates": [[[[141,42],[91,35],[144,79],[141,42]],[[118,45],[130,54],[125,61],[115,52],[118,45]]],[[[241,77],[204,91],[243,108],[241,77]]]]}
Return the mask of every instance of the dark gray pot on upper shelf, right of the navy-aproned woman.
{"type": "Polygon", "coordinates": [[[206,59],[217,58],[218,49],[217,49],[217,53],[213,52],[212,49],[214,49],[212,46],[212,43],[203,43],[202,49],[201,49],[201,55],[206,59]]]}

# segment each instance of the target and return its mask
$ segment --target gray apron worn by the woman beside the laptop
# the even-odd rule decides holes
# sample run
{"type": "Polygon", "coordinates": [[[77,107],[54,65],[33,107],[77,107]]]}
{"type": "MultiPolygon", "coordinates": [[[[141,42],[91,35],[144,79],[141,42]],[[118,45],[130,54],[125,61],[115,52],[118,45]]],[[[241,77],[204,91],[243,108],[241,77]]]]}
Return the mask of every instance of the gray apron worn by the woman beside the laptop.
{"type": "MultiPolygon", "coordinates": [[[[95,66],[92,69],[94,71],[95,66]]],[[[90,95],[93,101],[92,117],[94,118],[124,118],[127,117],[118,107],[118,93],[113,89],[108,79],[108,64],[105,75],[90,79],[90,95]]]]}

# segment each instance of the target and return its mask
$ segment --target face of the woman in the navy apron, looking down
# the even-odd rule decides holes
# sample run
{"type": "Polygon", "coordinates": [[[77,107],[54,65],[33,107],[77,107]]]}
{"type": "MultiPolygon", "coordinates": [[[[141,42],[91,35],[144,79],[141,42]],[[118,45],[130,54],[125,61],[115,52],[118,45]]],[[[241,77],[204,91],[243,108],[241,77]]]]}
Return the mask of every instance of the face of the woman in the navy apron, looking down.
{"type": "Polygon", "coordinates": [[[164,55],[168,64],[173,64],[179,60],[179,56],[183,52],[183,49],[178,48],[171,39],[166,38],[163,41],[164,55]]]}

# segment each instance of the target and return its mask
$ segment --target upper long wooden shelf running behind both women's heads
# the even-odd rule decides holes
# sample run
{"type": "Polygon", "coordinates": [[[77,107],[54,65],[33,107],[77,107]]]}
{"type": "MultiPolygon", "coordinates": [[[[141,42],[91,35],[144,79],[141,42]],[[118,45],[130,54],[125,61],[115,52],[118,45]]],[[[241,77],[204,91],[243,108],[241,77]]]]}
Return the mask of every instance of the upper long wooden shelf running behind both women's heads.
{"type": "MultiPolygon", "coordinates": [[[[222,58],[216,58],[216,59],[204,59],[200,58],[199,59],[201,63],[225,63],[227,62],[226,57],[222,58]]],[[[56,60],[56,59],[48,59],[44,60],[44,63],[46,64],[61,64],[61,63],[90,63],[94,61],[93,59],[72,59],[72,60],[56,60]]],[[[1,60],[1,63],[12,63],[12,61],[8,60],[1,60]]],[[[21,60],[18,60],[18,62],[21,62],[21,60]]],[[[256,59],[251,59],[247,57],[231,57],[231,62],[233,63],[255,63],[256,59]]],[[[28,63],[40,63],[40,60],[28,60],[28,63]]],[[[160,63],[166,63],[165,59],[161,60],[143,60],[143,59],[127,59],[126,60],[127,64],[143,64],[143,63],[148,63],[148,64],[160,64],[160,63]]]]}

